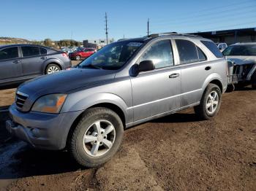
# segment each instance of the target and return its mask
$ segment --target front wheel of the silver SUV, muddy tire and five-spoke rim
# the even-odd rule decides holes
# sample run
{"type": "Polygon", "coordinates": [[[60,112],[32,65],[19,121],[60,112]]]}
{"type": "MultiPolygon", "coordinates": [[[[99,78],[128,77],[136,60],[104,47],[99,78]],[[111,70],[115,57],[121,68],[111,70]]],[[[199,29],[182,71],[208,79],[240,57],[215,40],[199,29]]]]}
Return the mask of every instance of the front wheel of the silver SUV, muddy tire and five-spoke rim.
{"type": "Polygon", "coordinates": [[[123,135],[124,127],[118,114],[103,107],[92,108],[86,111],[73,131],[69,152],[80,165],[99,166],[116,154],[123,135]]]}

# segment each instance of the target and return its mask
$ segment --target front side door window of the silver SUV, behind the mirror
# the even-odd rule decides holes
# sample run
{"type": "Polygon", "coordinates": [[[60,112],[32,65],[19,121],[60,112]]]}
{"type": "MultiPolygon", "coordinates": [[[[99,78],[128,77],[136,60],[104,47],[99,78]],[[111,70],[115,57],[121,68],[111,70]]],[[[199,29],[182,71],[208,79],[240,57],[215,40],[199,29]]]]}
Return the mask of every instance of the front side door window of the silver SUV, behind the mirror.
{"type": "Polygon", "coordinates": [[[173,66],[173,50],[170,40],[162,40],[148,47],[140,61],[153,61],[155,69],[173,66]]]}

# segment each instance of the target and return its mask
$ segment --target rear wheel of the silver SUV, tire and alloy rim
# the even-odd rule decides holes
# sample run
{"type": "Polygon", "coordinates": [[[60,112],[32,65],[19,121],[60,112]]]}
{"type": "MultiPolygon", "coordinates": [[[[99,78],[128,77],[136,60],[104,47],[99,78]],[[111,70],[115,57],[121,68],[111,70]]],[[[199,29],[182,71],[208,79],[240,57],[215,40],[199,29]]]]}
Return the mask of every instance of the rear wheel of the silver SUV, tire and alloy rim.
{"type": "Polygon", "coordinates": [[[219,86],[209,84],[203,93],[200,105],[194,107],[195,114],[197,114],[197,116],[202,120],[210,120],[218,114],[221,101],[222,92],[219,89],[219,86]]]}

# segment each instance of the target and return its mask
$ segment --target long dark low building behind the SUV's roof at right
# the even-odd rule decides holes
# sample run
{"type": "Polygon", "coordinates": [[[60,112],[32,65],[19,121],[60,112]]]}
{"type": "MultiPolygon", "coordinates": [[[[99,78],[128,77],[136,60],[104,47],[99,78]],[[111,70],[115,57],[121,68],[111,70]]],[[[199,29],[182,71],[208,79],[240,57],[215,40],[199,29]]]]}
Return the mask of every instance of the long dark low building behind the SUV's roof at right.
{"type": "Polygon", "coordinates": [[[224,31],[208,31],[191,33],[211,39],[214,42],[226,42],[234,44],[236,42],[256,42],[256,28],[238,28],[224,31]]]}

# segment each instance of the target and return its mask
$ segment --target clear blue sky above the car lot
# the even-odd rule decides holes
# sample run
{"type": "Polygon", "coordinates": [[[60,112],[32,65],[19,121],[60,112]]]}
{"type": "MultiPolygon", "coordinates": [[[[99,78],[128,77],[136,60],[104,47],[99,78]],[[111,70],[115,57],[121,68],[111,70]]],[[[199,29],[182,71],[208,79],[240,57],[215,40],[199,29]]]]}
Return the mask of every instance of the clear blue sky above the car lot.
{"type": "Polygon", "coordinates": [[[256,27],[256,0],[8,0],[1,1],[0,36],[31,40],[114,39],[177,31],[217,31],[256,27]]]}

